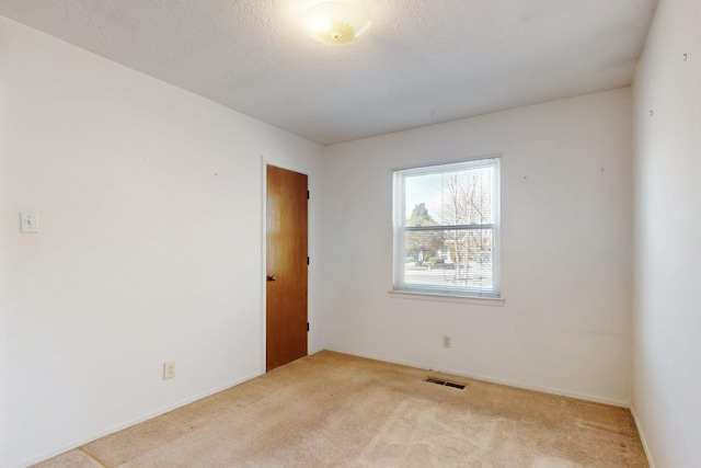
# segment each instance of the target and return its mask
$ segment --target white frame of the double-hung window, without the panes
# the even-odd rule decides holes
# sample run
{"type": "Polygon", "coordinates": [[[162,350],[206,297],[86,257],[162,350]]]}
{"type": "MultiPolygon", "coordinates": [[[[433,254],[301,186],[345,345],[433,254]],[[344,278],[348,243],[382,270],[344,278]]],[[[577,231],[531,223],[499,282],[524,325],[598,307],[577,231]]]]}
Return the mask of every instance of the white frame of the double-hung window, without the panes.
{"type": "MultiPolygon", "coordinates": [[[[393,286],[395,293],[413,293],[430,296],[460,297],[460,298],[478,298],[478,299],[498,299],[501,298],[501,277],[499,277],[499,260],[501,260],[501,156],[493,155],[475,159],[435,163],[429,165],[420,165],[411,168],[402,168],[393,171],[393,286]],[[407,283],[405,281],[405,233],[422,228],[406,226],[406,207],[405,207],[405,180],[407,176],[420,174],[449,173],[466,169],[476,169],[490,164],[494,167],[494,180],[492,189],[492,213],[493,222],[490,225],[463,225],[457,227],[458,230],[468,229],[491,229],[493,232],[492,246],[492,289],[470,288],[468,286],[436,286],[421,283],[407,283]]],[[[456,230],[456,226],[439,225],[430,226],[423,229],[429,230],[456,230]]]]}

